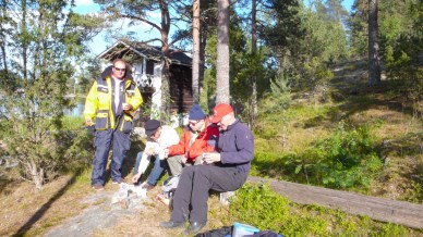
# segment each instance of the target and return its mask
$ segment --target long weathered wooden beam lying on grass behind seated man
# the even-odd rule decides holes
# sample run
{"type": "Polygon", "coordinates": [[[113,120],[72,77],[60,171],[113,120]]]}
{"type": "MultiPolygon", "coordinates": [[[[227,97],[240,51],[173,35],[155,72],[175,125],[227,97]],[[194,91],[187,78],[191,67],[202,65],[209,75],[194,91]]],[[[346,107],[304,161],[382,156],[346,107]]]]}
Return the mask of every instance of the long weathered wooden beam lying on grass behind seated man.
{"type": "Polygon", "coordinates": [[[277,194],[302,204],[319,204],[371,219],[423,228],[423,205],[348,191],[250,176],[250,183],[268,183],[277,194]]]}

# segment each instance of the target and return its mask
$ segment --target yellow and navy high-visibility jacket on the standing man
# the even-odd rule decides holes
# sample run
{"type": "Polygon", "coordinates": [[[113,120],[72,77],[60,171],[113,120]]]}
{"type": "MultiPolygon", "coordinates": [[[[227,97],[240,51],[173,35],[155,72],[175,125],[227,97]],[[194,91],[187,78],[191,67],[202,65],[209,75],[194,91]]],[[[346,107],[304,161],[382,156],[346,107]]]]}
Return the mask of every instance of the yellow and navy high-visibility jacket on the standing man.
{"type": "Polygon", "coordinates": [[[129,103],[132,105],[132,111],[124,111],[123,117],[116,116],[113,114],[113,88],[111,77],[98,78],[94,82],[86,100],[84,117],[96,118],[96,130],[106,130],[108,128],[117,129],[123,133],[130,133],[132,130],[132,112],[135,112],[143,103],[143,97],[140,89],[131,77],[124,80],[124,91],[122,103],[129,103]],[[116,121],[118,118],[118,121],[116,121]]]}

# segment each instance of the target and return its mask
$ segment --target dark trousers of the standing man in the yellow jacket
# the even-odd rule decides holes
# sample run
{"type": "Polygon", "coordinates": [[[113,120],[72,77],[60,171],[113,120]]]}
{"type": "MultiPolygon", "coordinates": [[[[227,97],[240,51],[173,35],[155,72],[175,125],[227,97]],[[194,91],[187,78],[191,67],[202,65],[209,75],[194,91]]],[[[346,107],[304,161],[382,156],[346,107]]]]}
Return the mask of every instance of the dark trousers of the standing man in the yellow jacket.
{"type": "Polygon", "coordinates": [[[106,166],[109,157],[110,146],[112,146],[113,158],[111,160],[111,179],[119,182],[122,179],[122,164],[131,147],[130,134],[119,130],[107,129],[97,130],[94,141],[96,149],[93,160],[92,185],[104,185],[106,180],[106,166]]]}

